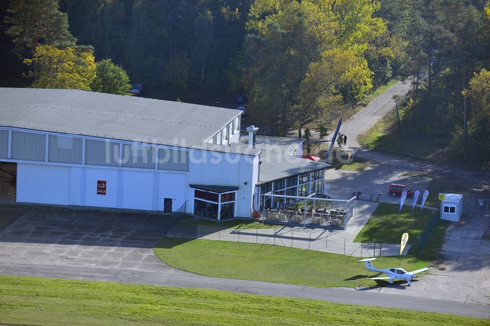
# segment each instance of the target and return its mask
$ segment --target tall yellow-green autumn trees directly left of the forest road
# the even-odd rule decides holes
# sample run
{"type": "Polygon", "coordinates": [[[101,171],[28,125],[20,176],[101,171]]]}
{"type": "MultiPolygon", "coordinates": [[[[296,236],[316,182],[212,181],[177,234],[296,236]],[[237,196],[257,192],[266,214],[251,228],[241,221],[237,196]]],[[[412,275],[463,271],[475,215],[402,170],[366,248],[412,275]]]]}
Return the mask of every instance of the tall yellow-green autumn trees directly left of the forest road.
{"type": "Polygon", "coordinates": [[[252,116],[273,124],[275,134],[340,113],[344,96],[360,98],[372,88],[364,54],[386,31],[373,17],[379,4],[326,2],[257,0],[250,9],[244,86],[252,116]]]}

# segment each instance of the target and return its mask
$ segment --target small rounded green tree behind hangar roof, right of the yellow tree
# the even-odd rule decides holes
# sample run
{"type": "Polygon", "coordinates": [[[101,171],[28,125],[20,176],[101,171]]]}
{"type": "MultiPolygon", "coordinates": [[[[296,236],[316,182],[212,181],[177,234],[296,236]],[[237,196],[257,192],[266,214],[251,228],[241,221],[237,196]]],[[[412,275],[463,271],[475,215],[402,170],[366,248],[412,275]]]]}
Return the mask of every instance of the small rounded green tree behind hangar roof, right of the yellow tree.
{"type": "Polygon", "coordinates": [[[96,77],[90,88],[94,92],[130,95],[129,77],[126,71],[112,63],[111,59],[103,59],[96,63],[96,77]]]}

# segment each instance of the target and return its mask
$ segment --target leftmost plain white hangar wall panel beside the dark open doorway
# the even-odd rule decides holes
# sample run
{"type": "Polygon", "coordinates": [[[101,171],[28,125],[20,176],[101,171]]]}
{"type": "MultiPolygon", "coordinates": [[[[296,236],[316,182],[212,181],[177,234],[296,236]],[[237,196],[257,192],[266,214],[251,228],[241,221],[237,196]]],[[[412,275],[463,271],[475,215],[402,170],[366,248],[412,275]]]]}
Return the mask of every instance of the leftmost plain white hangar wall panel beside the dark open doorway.
{"type": "Polygon", "coordinates": [[[17,163],[17,202],[69,205],[70,167],[17,163]]]}

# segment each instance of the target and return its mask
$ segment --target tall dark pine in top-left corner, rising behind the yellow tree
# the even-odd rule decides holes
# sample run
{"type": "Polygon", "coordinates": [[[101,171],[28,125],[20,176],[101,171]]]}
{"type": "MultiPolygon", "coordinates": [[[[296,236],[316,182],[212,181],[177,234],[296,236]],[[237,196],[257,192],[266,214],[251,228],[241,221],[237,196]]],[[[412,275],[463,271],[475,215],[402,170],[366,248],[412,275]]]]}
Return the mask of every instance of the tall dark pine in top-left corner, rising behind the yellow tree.
{"type": "Polygon", "coordinates": [[[74,47],[76,39],[68,30],[68,16],[59,11],[58,0],[11,0],[5,23],[11,26],[14,51],[30,57],[41,45],[74,47]]]}

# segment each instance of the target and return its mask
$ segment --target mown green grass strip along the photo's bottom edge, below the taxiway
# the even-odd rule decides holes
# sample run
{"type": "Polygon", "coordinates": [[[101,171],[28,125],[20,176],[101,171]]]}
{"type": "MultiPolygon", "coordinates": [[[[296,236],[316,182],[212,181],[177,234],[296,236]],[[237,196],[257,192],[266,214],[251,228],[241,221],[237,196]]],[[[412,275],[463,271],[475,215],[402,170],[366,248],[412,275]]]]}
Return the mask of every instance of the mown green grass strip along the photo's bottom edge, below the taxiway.
{"type": "Polygon", "coordinates": [[[0,323],[14,325],[488,325],[413,310],[214,290],[0,276],[0,323]]]}

